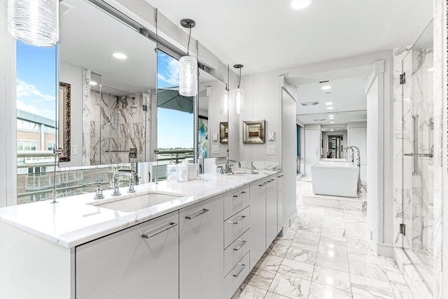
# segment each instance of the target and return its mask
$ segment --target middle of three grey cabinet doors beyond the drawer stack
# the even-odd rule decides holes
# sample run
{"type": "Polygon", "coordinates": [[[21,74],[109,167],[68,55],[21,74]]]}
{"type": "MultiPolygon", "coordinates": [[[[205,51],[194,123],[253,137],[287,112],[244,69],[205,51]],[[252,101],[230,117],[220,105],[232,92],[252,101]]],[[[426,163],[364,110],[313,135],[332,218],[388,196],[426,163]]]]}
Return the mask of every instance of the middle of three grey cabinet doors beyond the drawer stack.
{"type": "Polygon", "coordinates": [[[269,176],[266,184],[266,248],[277,235],[277,178],[269,176]]]}

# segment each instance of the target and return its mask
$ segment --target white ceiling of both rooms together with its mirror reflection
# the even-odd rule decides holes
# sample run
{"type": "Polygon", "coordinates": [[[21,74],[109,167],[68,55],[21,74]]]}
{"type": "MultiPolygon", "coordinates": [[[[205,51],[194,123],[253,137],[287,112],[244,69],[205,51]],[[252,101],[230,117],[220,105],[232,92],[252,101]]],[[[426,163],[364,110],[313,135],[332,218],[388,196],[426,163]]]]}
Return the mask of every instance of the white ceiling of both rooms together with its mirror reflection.
{"type": "MultiPolygon", "coordinates": [[[[293,11],[289,0],[146,1],[179,27],[181,19],[193,18],[192,36],[223,63],[244,64],[242,76],[409,45],[432,18],[431,0],[314,0],[302,11],[293,11]]],[[[103,75],[103,84],[127,94],[154,88],[153,42],[142,45],[140,34],[98,14],[87,1],[62,3],[73,6],[60,19],[62,60],[90,67],[103,75]],[[89,22],[83,22],[86,19],[89,22]],[[113,60],[113,50],[130,53],[130,58],[113,60]]],[[[369,73],[365,66],[287,78],[297,85],[297,102],[320,102],[297,105],[297,119],[316,123],[314,119],[325,118],[322,124],[328,124],[325,102],[330,101],[338,115],[335,124],[365,120],[369,73]],[[318,83],[326,80],[332,85],[330,95],[318,83]]]]}

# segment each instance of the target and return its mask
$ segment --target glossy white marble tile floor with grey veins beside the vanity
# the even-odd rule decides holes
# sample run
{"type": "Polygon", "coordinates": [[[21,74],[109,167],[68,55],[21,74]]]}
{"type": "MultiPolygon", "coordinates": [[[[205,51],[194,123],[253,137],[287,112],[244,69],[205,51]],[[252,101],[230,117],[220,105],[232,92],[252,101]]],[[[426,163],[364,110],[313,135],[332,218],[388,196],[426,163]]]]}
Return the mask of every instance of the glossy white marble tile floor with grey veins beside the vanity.
{"type": "MultiPolygon", "coordinates": [[[[414,298],[393,258],[377,256],[365,233],[365,214],[302,204],[233,299],[414,298]]],[[[368,207],[367,207],[368,209],[368,207]]]]}

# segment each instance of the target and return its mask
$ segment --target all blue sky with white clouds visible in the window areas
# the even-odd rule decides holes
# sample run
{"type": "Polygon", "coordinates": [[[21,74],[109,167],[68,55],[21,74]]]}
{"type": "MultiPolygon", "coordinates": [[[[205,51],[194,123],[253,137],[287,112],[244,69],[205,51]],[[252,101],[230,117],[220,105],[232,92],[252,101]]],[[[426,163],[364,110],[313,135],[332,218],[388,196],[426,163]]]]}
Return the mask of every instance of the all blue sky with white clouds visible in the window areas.
{"type": "MultiPolygon", "coordinates": [[[[17,42],[17,108],[55,120],[56,47],[17,42]]],[[[158,88],[179,86],[179,61],[158,52],[158,88]]],[[[193,148],[193,114],[158,109],[158,148],[193,148]]]]}

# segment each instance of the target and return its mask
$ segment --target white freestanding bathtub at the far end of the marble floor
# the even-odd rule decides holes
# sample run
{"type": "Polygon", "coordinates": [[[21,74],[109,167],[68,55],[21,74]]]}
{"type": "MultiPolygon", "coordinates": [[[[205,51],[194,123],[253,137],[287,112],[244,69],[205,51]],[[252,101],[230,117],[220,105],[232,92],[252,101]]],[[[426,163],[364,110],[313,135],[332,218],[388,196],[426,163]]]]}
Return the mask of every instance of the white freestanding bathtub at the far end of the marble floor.
{"type": "Polygon", "coordinates": [[[313,193],[356,197],[358,174],[353,162],[318,161],[311,165],[313,193]]]}

